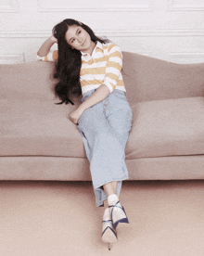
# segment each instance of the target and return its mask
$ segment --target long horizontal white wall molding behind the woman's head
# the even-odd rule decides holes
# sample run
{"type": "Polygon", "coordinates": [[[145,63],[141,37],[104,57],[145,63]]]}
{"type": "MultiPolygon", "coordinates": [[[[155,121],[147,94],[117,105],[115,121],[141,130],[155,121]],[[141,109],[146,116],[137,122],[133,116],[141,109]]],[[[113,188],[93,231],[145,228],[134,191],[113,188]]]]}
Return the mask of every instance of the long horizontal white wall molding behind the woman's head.
{"type": "MultiPolygon", "coordinates": [[[[185,37],[204,36],[203,30],[121,30],[121,31],[96,31],[98,36],[107,37],[185,37]]],[[[0,38],[47,38],[49,31],[44,32],[0,32],[0,38]]]]}

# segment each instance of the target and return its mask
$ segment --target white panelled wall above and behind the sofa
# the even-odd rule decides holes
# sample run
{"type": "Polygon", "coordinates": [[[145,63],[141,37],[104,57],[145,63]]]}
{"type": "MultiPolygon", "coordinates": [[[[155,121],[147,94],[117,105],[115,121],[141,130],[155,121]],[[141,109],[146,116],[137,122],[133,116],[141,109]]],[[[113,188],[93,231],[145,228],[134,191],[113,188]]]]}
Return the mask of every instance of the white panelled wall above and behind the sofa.
{"type": "Polygon", "coordinates": [[[0,0],[0,63],[35,59],[53,26],[67,18],[123,51],[204,62],[204,0],[0,0]]]}

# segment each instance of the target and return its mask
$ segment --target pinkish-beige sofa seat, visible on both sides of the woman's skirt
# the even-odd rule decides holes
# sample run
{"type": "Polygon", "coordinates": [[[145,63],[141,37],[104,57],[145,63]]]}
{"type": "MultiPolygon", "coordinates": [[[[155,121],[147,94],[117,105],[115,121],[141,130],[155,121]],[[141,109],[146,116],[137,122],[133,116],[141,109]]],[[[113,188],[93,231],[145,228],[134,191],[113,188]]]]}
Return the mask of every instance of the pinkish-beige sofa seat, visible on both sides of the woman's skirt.
{"type": "MultiPolygon", "coordinates": [[[[86,158],[82,135],[69,120],[77,106],[68,109],[37,97],[18,101],[18,96],[4,106],[2,156],[86,158]]],[[[127,160],[204,154],[203,97],[152,100],[132,108],[127,160]]]]}

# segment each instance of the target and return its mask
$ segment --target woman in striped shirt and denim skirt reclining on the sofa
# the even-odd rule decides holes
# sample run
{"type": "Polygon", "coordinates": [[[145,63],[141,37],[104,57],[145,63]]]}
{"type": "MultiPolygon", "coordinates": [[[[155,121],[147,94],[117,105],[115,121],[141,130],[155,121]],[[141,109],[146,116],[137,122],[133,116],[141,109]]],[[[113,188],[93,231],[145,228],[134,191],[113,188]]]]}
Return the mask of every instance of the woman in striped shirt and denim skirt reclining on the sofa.
{"type": "Polygon", "coordinates": [[[55,94],[61,100],[59,104],[73,104],[72,94],[83,95],[82,104],[70,114],[70,121],[78,125],[83,135],[96,206],[104,206],[108,199],[102,240],[115,242],[117,225],[128,223],[118,197],[121,182],[128,179],[124,149],[132,125],[132,109],[121,76],[121,50],[96,37],[82,22],[64,19],[54,27],[53,35],[37,55],[42,60],[56,61],[55,94]],[[50,53],[55,43],[58,50],[50,53]]]}

